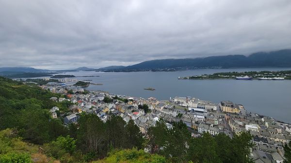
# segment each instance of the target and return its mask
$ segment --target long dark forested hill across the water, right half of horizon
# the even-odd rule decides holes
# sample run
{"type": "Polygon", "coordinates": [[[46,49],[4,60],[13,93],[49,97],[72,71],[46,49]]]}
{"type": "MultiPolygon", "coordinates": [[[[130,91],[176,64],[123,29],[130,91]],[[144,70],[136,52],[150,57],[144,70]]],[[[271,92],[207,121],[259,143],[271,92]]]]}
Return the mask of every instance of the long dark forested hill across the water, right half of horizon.
{"type": "Polygon", "coordinates": [[[141,62],[124,70],[162,69],[178,67],[291,67],[291,49],[243,55],[213,56],[195,59],[160,59],[141,62]]]}

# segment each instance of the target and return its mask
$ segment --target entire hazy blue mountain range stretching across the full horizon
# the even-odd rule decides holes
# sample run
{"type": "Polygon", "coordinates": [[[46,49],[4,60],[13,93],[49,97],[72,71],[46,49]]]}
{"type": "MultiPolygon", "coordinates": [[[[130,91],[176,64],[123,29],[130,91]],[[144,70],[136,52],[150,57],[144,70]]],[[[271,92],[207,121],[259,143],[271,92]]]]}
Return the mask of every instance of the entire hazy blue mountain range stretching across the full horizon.
{"type": "MultiPolygon", "coordinates": [[[[212,56],[195,59],[156,59],[148,60],[131,66],[108,66],[99,69],[79,67],[73,70],[61,71],[149,71],[160,69],[194,69],[194,68],[243,68],[243,67],[291,67],[291,49],[271,52],[258,52],[249,56],[227,55],[212,56]]],[[[50,70],[35,69],[31,67],[2,67],[0,75],[43,73],[50,70]]]]}

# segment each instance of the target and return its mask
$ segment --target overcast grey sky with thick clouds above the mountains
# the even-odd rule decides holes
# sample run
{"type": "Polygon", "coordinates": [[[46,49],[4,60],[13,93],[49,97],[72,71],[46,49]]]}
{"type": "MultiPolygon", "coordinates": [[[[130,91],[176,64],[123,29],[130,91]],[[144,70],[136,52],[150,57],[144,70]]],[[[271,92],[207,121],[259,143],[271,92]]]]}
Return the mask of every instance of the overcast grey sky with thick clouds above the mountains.
{"type": "Polygon", "coordinates": [[[0,67],[131,65],[291,48],[291,0],[0,0],[0,67]]]}

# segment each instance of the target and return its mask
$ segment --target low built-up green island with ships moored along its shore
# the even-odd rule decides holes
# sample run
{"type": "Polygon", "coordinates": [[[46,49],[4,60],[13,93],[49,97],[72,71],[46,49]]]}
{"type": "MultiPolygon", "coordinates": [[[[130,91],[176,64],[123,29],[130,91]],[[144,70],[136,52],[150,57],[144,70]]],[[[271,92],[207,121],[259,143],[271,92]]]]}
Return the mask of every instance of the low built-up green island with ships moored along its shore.
{"type": "Polygon", "coordinates": [[[241,80],[291,80],[291,70],[288,71],[250,71],[228,72],[214,74],[200,74],[194,76],[178,77],[178,79],[241,79],[241,80]]]}

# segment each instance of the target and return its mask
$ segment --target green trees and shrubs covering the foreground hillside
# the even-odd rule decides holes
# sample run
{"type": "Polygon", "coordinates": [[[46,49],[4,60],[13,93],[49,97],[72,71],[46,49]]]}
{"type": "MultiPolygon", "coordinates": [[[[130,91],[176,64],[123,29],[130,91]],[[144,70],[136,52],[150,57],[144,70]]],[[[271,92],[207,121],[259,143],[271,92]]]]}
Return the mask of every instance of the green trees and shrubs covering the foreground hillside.
{"type": "Polygon", "coordinates": [[[65,127],[61,119],[51,119],[49,109],[65,112],[70,103],[50,101],[53,96],[62,97],[0,77],[0,163],[252,162],[249,133],[194,138],[184,123],[169,130],[160,119],[143,135],[132,120],[112,116],[103,122],[95,114],[82,114],[78,125],[65,127]]]}

